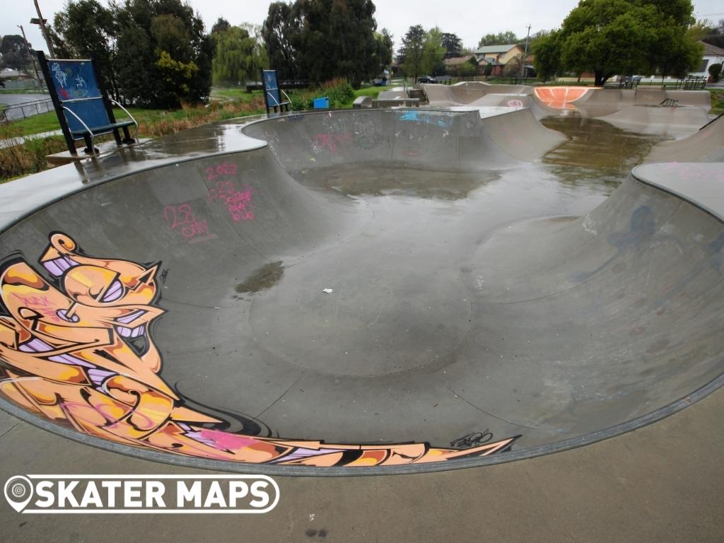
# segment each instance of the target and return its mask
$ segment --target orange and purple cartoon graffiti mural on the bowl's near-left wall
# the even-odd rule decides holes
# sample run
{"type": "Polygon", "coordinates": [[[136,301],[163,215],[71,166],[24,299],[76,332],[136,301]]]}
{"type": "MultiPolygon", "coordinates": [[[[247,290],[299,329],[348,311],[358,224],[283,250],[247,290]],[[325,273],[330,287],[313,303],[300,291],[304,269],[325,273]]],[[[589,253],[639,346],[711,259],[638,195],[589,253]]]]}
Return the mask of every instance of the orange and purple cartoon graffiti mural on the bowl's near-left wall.
{"type": "Polygon", "coordinates": [[[185,405],[161,378],[161,355],[149,328],[165,312],[157,305],[160,263],[94,258],[55,232],[38,264],[49,279],[22,258],[0,271],[0,393],[77,432],[177,455],[307,466],[484,456],[507,450],[516,439],[492,442],[489,434],[486,442],[468,439],[460,448],[437,448],[224,431],[223,421],[185,405]]]}

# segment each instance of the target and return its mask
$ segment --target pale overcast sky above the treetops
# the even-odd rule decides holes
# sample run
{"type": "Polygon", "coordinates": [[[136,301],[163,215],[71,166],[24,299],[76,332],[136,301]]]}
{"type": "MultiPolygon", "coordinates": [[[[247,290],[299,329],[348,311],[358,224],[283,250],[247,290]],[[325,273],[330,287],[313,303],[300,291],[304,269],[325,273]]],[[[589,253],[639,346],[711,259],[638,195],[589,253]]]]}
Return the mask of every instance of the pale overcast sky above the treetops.
{"type": "MultiPolygon", "coordinates": [[[[22,25],[33,47],[47,52],[40,30],[29,23],[30,17],[36,17],[33,0],[1,1],[4,5],[0,35],[19,34],[17,25],[22,25]]],[[[51,22],[55,12],[67,3],[67,0],[38,1],[43,17],[51,22]]],[[[107,1],[101,0],[101,3],[107,4],[107,1]]],[[[261,25],[271,4],[264,0],[190,0],[189,3],[201,13],[207,31],[222,16],[232,25],[241,22],[261,25]]],[[[578,0],[378,0],[374,4],[377,27],[392,32],[395,49],[408,28],[417,24],[426,29],[439,26],[444,32],[456,33],[466,47],[475,48],[481,36],[489,33],[513,30],[524,36],[529,23],[531,33],[555,28],[576,7],[578,0]]],[[[694,0],[694,13],[697,19],[718,21],[724,19],[724,3],[722,0],[694,0]]]]}

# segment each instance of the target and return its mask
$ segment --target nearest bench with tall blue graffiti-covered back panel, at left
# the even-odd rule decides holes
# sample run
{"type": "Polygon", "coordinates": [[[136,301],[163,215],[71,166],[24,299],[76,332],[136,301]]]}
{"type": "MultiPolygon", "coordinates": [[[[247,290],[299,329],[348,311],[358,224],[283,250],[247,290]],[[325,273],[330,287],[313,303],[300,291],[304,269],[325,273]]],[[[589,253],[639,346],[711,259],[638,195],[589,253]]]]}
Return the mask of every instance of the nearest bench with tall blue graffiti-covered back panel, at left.
{"type": "Polygon", "coordinates": [[[38,51],[38,60],[71,154],[77,154],[76,140],[85,141],[86,154],[98,153],[95,138],[104,134],[113,134],[119,146],[135,143],[128,127],[135,125],[138,138],[138,122],[125,107],[106,94],[95,61],[46,59],[43,51],[38,51]],[[117,121],[111,104],[125,111],[129,119],[117,121]]]}

